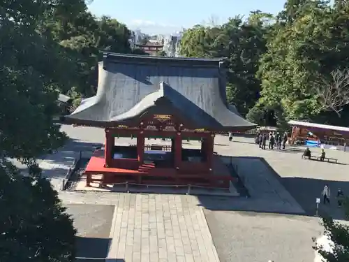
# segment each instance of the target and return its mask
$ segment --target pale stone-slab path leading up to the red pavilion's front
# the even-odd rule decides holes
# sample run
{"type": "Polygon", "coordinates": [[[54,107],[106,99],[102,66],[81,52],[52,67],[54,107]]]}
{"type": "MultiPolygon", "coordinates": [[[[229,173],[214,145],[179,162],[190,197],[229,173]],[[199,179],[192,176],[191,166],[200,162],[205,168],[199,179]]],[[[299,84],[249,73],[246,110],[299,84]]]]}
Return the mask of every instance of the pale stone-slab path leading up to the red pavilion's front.
{"type": "Polygon", "coordinates": [[[108,259],[218,262],[195,196],[61,191],[66,204],[115,205],[108,259]]]}

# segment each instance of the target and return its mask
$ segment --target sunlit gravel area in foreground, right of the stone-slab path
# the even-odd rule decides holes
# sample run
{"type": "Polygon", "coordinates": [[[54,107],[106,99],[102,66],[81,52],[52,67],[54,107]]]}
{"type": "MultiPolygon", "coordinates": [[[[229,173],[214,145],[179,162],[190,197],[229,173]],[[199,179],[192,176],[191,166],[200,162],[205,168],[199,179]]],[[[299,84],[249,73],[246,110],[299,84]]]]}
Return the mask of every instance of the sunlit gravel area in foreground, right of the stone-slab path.
{"type": "Polygon", "coordinates": [[[221,262],[311,262],[318,219],[281,214],[205,210],[221,262]]]}

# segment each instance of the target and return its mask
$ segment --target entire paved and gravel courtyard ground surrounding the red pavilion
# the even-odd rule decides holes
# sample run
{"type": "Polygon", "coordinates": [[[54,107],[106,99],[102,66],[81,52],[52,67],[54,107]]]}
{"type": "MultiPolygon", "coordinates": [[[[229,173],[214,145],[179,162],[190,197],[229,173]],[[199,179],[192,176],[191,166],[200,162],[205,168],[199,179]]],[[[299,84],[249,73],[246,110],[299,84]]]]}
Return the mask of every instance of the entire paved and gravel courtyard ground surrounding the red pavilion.
{"type": "MultiPolygon", "coordinates": [[[[77,152],[93,150],[104,138],[103,129],[62,130],[70,142],[40,167],[75,219],[82,259],[312,261],[311,238],[322,231],[315,198],[325,184],[332,194],[337,187],[349,192],[345,152],[328,150],[340,164],[322,163],[302,160],[303,147],[260,150],[252,138],[229,142],[225,136],[216,136],[214,151],[232,157],[251,198],[61,191],[77,152]]],[[[320,205],[320,212],[343,218],[335,204],[320,205]]]]}

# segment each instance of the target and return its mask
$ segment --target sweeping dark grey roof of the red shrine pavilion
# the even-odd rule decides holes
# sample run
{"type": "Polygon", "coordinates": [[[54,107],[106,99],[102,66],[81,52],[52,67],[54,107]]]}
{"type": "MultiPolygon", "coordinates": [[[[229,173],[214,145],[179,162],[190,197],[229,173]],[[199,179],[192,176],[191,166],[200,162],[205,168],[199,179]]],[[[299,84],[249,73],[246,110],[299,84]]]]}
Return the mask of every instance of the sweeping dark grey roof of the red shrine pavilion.
{"type": "Polygon", "coordinates": [[[112,126],[140,122],[144,112],[176,115],[211,131],[255,125],[228,108],[222,59],[105,54],[96,96],[82,101],[66,122],[112,126]]]}

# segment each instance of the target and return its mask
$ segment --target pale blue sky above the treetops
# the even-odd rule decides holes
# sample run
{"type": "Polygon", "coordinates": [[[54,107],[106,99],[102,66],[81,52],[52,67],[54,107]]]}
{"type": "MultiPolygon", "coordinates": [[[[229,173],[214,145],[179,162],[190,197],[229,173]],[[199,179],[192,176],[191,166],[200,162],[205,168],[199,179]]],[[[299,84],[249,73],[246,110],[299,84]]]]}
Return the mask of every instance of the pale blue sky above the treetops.
{"type": "Polygon", "coordinates": [[[146,34],[172,34],[195,24],[221,24],[235,15],[261,10],[276,14],[284,0],[89,0],[96,16],[108,15],[132,30],[146,34]]]}

